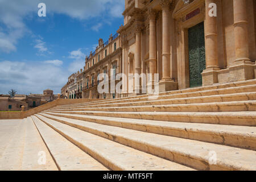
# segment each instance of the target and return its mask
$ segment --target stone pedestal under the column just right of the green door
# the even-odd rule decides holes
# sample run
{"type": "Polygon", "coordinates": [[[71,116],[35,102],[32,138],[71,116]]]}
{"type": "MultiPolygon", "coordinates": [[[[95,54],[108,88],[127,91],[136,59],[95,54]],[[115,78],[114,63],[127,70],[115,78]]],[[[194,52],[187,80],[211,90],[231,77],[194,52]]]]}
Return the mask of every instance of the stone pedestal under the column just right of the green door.
{"type": "Polygon", "coordinates": [[[203,86],[213,85],[218,82],[218,71],[220,68],[208,68],[201,73],[203,86]]]}

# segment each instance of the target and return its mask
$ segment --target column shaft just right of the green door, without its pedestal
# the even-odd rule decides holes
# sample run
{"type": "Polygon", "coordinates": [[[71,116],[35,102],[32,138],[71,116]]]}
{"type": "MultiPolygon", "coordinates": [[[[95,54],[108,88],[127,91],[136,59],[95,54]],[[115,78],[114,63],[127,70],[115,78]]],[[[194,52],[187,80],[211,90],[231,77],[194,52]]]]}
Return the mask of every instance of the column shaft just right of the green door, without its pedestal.
{"type": "Polygon", "coordinates": [[[217,17],[209,16],[209,4],[216,3],[216,0],[205,1],[205,51],[206,65],[209,68],[218,68],[218,47],[217,47],[217,17]]]}

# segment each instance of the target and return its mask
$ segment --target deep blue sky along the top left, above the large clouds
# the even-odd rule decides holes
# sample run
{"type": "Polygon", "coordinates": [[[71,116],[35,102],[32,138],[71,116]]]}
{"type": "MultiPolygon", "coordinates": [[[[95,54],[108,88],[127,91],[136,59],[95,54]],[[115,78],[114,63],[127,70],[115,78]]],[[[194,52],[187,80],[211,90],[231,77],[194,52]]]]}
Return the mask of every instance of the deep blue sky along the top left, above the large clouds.
{"type": "MultiPolygon", "coordinates": [[[[40,2],[42,1],[0,0],[0,23],[5,26],[0,30],[0,51],[9,53],[16,50],[18,40],[29,32],[23,19],[32,14],[36,17],[40,2]]],[[[123,0],[44,0],[47,15],[65,14],[80,20],[102,15],[105,19],[122,17],[124,2],[123,0]]],[[[101,26],[98,23],[94,30],[98,31],[101,26]]],[[[41,50],[45,48],[42,47],[41,50]]]]}

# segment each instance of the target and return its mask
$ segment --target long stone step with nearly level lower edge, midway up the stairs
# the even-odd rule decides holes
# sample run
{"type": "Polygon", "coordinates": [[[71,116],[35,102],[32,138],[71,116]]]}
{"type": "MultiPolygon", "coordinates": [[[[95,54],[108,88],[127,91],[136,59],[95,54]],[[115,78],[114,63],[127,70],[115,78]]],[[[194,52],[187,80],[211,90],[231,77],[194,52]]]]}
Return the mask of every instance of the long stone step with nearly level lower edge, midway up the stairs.
{"type": "Polygon", "coordinates": [[[164,111],[164,112],[218,112],[256,111],[256,101],[212,102],[202,104],[173,104],[151,106],[84,107],[48,109],[47,111],[164,111]]]}

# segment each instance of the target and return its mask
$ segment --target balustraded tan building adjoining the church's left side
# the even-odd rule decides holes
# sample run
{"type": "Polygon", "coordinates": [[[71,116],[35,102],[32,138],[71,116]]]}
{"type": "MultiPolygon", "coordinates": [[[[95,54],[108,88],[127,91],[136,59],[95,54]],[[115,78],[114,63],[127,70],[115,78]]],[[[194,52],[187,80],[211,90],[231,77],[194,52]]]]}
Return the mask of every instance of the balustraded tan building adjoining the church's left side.
{"type": "MultiPolygon", "coordinates": [[[[122,48],[120,47],[120,36],[110,35],[107,42],[98,40],[98,46],[94,52],[85,59],[83,98],[119,98],[119,94],[110,93],[110,78],[121,73],[122,48]],[[113,72],[111,72],[111,70],[113,72]],[[98,80],[101,73],[106,75],[98,80]],[[109,80],[109,92],[98,93],[98,84],[102,80],[109,80]]],[[[103,74],[102,74],[103,75],[103,74]]]]}

